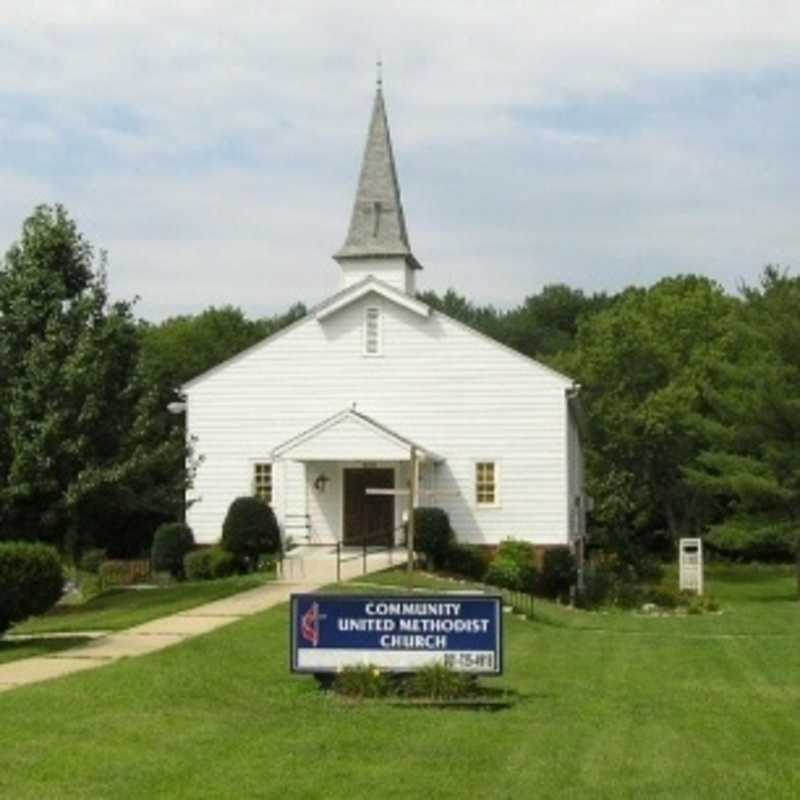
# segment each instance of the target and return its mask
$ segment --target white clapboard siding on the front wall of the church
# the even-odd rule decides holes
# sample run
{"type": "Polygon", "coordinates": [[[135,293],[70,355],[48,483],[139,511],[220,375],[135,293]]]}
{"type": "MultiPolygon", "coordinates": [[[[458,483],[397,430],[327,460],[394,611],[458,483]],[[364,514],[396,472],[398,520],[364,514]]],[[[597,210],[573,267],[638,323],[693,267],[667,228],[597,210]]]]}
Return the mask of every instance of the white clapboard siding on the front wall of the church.
{"type": "MultiPolygon", "coordinates": [[[[215,541],[231,499],[249,491],[254,461],[269,460],[273,448],[355,403],[444,459],[432,478],[443,492],[437,504],[448,510],[462,541],[516,537],[564,544],[576,491],[569,463],[570,385],[442,314],[421,317],[369,294],[323,321],[308,318],[187,387],[190,432],[205,456],[190,523],[199,541],[215,541]],[[363,355],[367,306],[384,312],[379,357],[363,355]],[[477,461],[498,464],[496,507],[476,507],[477,461]]],[[[342,452],[331,447],[316,455],[328,462],[402,458],[396,450],[391,456],[356,455],[339,444],[342,452]]],[[[282,522],[295,509],[308,510],[307,482],[314,477],[308,473],[316,466],[306,474],[289,466],[281,473],[274,506],[282,522]]],[[[326,492],[331,506],[334,487],[326,492]]],[[[315,524],[335,537],[330,522],[319,522],[335,518],[328,506],[315,524]]]]}

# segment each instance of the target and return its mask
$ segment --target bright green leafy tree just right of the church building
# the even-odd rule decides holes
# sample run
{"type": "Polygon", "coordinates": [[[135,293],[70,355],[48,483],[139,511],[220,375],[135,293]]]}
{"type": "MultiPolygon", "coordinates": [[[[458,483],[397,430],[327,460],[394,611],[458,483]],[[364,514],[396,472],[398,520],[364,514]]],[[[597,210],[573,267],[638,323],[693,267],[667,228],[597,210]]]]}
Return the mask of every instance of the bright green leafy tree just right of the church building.
{"type": "Polygon", "coordinates": [[[735,306],[713,281],[680,276],[629,289],[579,326],[563,366],[584,386],[595,529],[621,552],[666,546],[707,521],[682,470],[699,452],[695,420],[735,306]]]}

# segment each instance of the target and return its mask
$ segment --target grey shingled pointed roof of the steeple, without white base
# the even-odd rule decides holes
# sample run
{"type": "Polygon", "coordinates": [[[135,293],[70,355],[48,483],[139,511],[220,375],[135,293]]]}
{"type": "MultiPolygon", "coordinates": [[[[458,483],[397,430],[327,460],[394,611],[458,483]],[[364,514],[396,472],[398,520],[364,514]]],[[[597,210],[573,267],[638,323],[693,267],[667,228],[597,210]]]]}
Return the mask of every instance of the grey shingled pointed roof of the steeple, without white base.
{"type": "Polygon", "coordinates": [[[403,256],[410,267],[422,269],[408,243],[400,185],[397,181],[389,123],[379,79],[350,229],[345,243],[334,258],[340,261],[391,256],[403,256]]]}

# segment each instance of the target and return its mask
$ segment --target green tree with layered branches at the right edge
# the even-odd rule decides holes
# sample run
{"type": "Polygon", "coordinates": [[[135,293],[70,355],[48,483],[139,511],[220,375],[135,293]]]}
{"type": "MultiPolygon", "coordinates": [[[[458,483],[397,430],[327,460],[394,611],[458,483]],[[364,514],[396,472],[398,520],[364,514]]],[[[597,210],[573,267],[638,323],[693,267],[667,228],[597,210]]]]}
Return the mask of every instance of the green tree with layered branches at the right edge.
{"type": "Polygon", "coordinates": [[[800,278],[768,267],[743,295],[698,421],[704,447],[685,473],[717,503],[713,544],[800,559],[800,278]]]}

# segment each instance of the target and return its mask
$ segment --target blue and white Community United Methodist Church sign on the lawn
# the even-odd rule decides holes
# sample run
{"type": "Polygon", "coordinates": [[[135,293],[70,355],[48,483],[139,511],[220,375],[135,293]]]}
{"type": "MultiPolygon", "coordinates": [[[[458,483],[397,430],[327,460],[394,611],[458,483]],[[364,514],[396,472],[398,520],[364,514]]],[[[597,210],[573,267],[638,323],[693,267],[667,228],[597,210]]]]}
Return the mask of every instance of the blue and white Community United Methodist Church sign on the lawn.
{"type": "Polygon", "coordinates": [[[503,671],[499,595],[294,594],[291,610],[293,672],[361,664],[414,672],[434,663],[503,671]]]}

